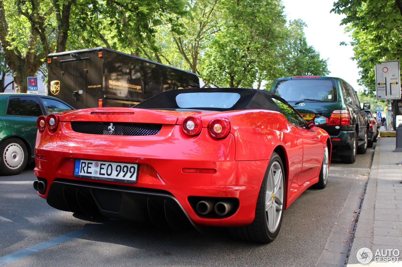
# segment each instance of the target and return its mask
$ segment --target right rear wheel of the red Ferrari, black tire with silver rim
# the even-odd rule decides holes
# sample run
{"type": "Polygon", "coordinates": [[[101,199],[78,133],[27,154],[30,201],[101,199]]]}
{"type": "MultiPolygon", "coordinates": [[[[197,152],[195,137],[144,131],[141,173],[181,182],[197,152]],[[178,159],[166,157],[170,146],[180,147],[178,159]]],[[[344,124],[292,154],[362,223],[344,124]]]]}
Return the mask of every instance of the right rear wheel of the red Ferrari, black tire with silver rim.
{"type": "Polygon", "coordinates": [[[270,243],[279,234],[285,208],[285,173],[276,152],[269,160],[267,172],[258,194],[254,221],[246,226],[229,229],[232,237],[245,241],[270,243]]]}

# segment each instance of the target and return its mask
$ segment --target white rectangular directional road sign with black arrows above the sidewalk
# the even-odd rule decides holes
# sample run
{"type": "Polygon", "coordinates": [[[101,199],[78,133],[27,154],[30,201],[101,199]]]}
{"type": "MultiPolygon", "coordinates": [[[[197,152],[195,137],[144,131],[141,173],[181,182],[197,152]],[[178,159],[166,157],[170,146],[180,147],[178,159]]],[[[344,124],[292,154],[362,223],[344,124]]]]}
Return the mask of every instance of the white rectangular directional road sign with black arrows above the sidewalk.
{"type": "Polygon", "coordinates": [[[383,61],[375,64],[377,99],[400,99],[401,81],[399,61],[383,61]]]}

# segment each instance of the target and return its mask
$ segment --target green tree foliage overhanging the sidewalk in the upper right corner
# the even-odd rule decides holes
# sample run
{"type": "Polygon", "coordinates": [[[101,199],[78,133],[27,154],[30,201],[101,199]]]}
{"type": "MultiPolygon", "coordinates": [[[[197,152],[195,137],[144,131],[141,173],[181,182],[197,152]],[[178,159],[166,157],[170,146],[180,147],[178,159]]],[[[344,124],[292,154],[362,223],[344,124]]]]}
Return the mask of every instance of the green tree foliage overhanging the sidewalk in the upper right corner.
{"type": "Polygon", "coordinates": [[[332,12],[345,14],[342,24],[353,38],[354,59],[362,69],[359,84],[375,92],[375,64],[402,56],[401,0],[338,0],[332,12]]]}

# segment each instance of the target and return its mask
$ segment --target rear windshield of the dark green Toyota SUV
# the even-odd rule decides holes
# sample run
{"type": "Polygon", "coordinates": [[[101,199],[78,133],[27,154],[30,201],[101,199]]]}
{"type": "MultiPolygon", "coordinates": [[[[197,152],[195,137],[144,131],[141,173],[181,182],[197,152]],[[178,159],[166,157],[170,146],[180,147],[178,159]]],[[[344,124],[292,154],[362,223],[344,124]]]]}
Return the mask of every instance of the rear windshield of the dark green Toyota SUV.
{"type": "Polygon", "coordinates": [[[291,79],[279,81],[272,90],[288,102],[315,99],[323,102],[338,101],[335,80],[291,79]]]}

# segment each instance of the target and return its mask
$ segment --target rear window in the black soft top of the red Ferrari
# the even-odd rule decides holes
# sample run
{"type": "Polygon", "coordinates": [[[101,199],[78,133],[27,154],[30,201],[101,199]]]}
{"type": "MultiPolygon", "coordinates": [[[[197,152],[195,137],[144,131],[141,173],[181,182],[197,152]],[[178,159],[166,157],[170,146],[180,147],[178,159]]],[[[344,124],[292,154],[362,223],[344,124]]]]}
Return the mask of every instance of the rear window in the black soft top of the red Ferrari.
{"type": "Polygon", "coordinates": [[[180,108],[229,109],[240,99],[240,94],[230,92],[194,92],[176,95],[180,108]]]}

